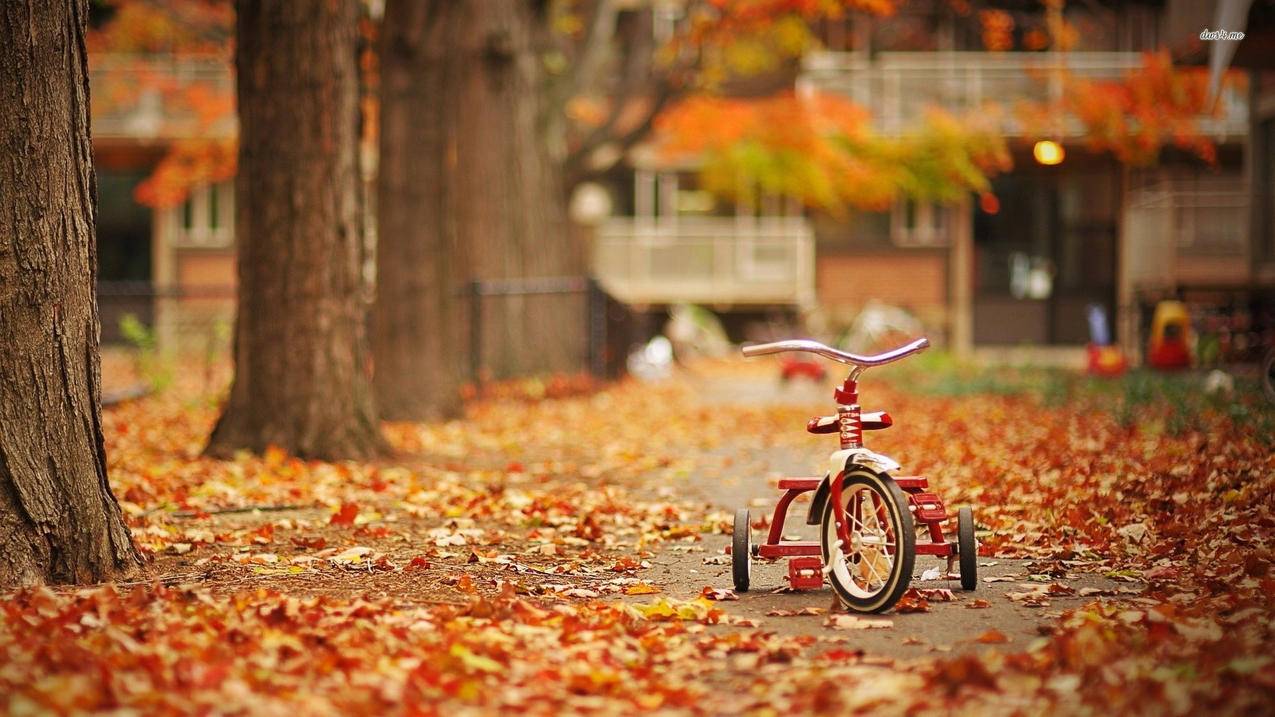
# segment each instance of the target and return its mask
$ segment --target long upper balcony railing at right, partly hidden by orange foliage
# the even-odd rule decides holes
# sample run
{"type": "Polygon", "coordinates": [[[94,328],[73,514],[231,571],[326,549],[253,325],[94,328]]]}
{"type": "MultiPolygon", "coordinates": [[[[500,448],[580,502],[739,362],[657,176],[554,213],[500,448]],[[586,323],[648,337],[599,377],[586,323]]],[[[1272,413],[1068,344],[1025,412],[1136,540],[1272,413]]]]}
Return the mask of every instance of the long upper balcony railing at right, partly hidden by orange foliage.
{"type": "MultiPolygon", "coordinates": [[[[806,59],[799,84],[834,92],[870,107],[877,130],[898,135],[909,131],[928,107],[973,112],[988,102],[1006,107],[1001,130],[1016,137],[1024,128],[1012,116],[1019,101],[1044,102],[1057,97],[1065,70],[1086,79],[1119,79],[1142,66],[1139,52],[816,52],[806,59]]],[[[1248,131],[1248,105],[1242,92],[1227,87],[1219,116],[1200,119],[1211,137],[1243,137],[1248,131]]],[[[1065,122],[1063,135],[1081,128],[1065,122]]]]}

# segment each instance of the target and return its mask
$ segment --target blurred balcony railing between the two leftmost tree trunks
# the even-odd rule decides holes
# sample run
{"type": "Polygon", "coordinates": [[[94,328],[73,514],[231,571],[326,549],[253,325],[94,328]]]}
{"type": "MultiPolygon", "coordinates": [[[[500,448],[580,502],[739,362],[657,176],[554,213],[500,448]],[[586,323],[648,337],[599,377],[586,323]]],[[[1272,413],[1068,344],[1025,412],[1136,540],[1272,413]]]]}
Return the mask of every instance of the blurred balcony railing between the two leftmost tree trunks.
{"type": "Polygon", "coordinates": [[[171,55],[89,57],[93,138],[233,137],[235,73],[228,61],[171,55]]]}

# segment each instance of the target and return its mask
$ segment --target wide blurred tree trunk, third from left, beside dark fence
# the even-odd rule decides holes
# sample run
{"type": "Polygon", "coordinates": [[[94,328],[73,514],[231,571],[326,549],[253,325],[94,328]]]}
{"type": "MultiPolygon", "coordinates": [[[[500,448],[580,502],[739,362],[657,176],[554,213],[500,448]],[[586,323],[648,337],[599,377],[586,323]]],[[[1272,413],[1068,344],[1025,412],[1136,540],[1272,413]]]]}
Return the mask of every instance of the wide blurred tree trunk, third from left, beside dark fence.
{"type": "MultiPolygon", "coordinates": [[[[546,3],[389,0],[381,46],[376,395],[385,417],[455,415],[473,279],[580,276],[541,133],[546,3]]],[[[584,364],[580,295],[482,300],[495,378],[584,364]]]]}

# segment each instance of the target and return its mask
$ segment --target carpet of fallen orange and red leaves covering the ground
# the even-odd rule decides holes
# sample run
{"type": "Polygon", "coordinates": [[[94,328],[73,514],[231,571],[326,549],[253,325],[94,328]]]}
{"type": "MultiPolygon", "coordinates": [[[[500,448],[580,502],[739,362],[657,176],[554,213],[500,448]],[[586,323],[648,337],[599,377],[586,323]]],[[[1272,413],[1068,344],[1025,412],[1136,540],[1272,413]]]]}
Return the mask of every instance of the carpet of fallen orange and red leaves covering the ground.
{"type": "MultiPolygon", "coordinates": [[[[706,365],[543,401],[518,387],[463,421],[388,425],[395,455],[375,463],[209,461],[209,401],[111,408],[111,480],[153,563],[133,583],[8,595],[0,711],[1269,711],[1275,457],[1221,413],[1170,435],[1155,403],[1125,427],[1086,401],[864,387],[896,420],[873,448],[977,505],[984,556],[1145,586],[1021,653],[890,660],[853,632],[779,634],[732,602],[663,595],[644,561],[728,526],[687,487],[750,450],[817,464],[829,448],[801,431],[821,404],[705,399],[770,380],[706,365]]],[[[1007,600],[998,587],[979,596],[1007,600]]]]}

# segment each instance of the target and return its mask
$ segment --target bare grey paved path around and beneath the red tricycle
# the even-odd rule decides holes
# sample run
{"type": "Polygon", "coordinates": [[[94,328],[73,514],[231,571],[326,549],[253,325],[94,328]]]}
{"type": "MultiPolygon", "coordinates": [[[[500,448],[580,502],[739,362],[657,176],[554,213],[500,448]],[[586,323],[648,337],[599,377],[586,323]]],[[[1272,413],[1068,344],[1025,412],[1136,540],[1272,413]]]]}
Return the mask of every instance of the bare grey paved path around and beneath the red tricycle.
{"type": "MultiPolygon", "coordinates": [[[[826,403],[826,389],[803,384],[782,388],[778,384],[752,383],[741,395],[740,383],[719,383],[705,380],[699,395],[701,401],[710,404],[720,404],[729,408],[734,402],[747,402],[750,404],[799,404],[819,406],[826,403]]],[[[802,430],[802,426],[793,426],[793,430],[802,430]]],[[[690,481],[692,498],[703,499],[732,514],[736,508],[748,506],[754,515],[774,509],[774,503],[780,495],[771,487],[770,477],[776,475],[811,475],[811,467],[821,464],[819,449],[821,443],[811,441],[810,454],[798,454],[787,448],[768,445],[765,436],[741,436],[733,445],[719,449],[723,457],[731,455],[734,459],[732,471],[720,477],[704,477],[690,481]]],[[[936,486],[942,490],[941,484],[936,486]]],[[[815,527],[805,524],[808,499],[798,499],[790,510],[787,523],[787,535],[801,540],[815,540],[815,527]]],[[[977,510],[975,510],[977,518],[977,510]]],[[[975,521],[977,522],[977,521],[975,521]]],[[[760,537],[754,531],[754,540],[760,537]]],[[[724,549],[729,545],[729,536],[710,536],[699,543],[683,543],[666,547],[652,560],[652,570],[646,574],[657,583],[662,584],[668,595],[678,598],[687,598],[697,595],[704,587],[731,588],[731,565],[724,549]]],[[[1104,591],[1119,595],[1119,591],[1133,597],[1133,592],[1141,586],[1125,582],[1116,582],[1098,575],[1068,574],[1056,577],[1031,575],[1030,561],[1005,560],[983,558],[979,560],[980,584],[974,592],[960,589],[958,580],[921,580],[921,575],[927,569],[943,570],[945,559],[932,556],[918,556],[913,587],[918,588],[946,588],[951,591],[951,602],[929,602],[928,612],[895,614],[890,612],[884,617],[892,621],[890,629],[838,632],[847,635],[854,647],[864,649],[870,654],[882,654],[886,657],[907,658],[921,657],[928,653],[968,652],[986,649],[988,647],[1000,649],[1024,649],[1034,639],[1044,634],[1053,619],[1063,610],[1076,607],[1093,600],[1093,597],[1080,597],[1085,589],[1104,591]],[[989,578],[989,580],[988,580],[989,578]],[[1023,601],[1006,597],[1009,592],[1025,592],[1051,582],[1061,583],[1076,591],[1074,597],[1051,596],[1048,605],[1026,606],[1023,601]],[[975,600],[988,603],[987,607],[972,609],[975,600]],[[988,634],[996,630],[1003,635],[1006,642],[978,642],[996,638],[988,634]]],[[[723,607],[731,614],[760,623],[761,628],[782,634],[816,634],[827,635],[830,629],[824,626],[827,609],[833,605],[833,592],[825,587],[820,591],[810,592],[782,592],[773,591],[787,586],[787,561],[775,563],[755,561],[752,572],[752,589],[740,595],[738,601],[724,602],[723,607]],[[773,616],[771,611],[797,612],[803,609],[820,609],[819,615],[798,616],[773,616]]],[[[982,605],[982,603],[979,603],[982,605]]]]}

